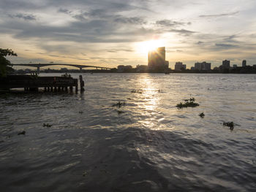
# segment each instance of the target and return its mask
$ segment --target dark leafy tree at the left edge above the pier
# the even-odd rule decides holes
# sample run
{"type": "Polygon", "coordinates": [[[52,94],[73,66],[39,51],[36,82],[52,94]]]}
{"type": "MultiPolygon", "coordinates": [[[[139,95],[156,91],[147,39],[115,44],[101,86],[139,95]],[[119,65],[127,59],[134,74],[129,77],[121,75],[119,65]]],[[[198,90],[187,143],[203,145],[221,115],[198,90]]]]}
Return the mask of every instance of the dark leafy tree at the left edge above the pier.
{"type": "Polygon", "coordinates": [[[17,56],[17,54],[10,49],[0,48],[0,77],[6,76],[8,72],[13,70],[11,62],[5,58],[8,55],[17,56]]]}

